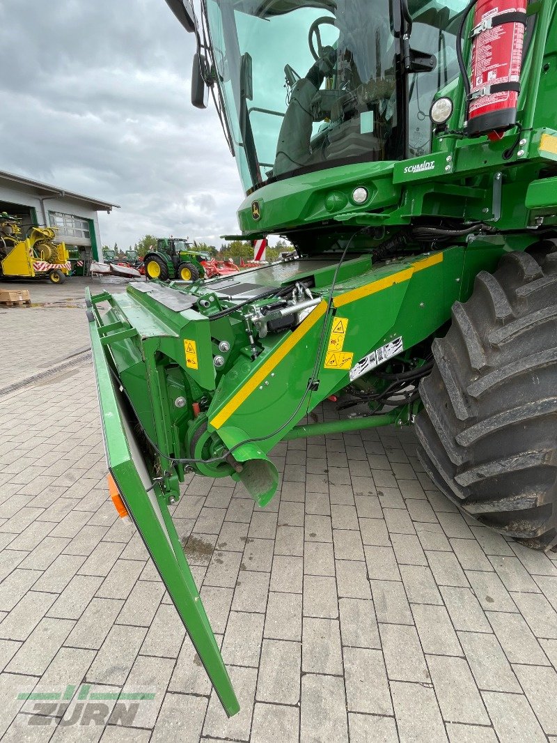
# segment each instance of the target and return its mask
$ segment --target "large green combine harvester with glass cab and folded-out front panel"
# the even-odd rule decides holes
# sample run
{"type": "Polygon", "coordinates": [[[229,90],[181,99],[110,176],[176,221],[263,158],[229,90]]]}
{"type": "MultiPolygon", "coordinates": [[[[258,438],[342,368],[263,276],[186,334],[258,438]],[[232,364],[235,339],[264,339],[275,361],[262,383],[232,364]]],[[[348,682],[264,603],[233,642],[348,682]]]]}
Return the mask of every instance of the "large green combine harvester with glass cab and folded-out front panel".
{"type": "Polygon", "coordinates": [[[186,473],[263,507],[279,441],[414,424],[460,509],[556,548],[557,1],[166,1],[238,163],[237,237],[297,257],[88,319],[120,508],[233,715],[169,514],[186,473]],[[359,415],[304,422],[332,395],[359,415]]]}

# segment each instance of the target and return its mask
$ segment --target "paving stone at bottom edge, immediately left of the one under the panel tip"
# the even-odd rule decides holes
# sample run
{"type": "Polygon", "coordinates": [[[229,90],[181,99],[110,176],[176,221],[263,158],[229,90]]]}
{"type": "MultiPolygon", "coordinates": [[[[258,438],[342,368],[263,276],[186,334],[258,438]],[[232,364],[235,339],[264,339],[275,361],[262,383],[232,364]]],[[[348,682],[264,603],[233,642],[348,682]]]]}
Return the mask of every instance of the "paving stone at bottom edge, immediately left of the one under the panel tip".
{"type": "Polygon", "coordinates": [[[166,694],[151,743],[198,743],[208,700],[187,694],[166,694]],[[184,724],[187,720],[187,724],[184,724]]]}

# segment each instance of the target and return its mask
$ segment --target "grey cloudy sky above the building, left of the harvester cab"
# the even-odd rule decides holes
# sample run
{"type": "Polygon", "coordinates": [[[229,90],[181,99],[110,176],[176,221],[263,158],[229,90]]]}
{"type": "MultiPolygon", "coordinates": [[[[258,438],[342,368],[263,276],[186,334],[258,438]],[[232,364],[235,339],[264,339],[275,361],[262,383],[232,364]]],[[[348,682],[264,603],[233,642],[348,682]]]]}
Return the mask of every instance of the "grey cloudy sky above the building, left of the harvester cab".
{"type": "Polygon", "coordinates": [[[194,39],[164,0],[1,5],[1,169],[120,204],[105,244],[238,230],[235,160],[189,103],[194,39]]]}

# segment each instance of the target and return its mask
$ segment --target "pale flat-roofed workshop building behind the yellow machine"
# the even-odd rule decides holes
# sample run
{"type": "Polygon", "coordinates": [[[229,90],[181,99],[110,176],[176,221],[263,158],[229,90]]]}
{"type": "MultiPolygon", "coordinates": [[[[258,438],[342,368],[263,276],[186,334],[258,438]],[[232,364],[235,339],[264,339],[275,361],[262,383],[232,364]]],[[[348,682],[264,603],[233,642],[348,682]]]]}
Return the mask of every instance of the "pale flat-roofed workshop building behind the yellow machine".
{"type": "Polygon", "coordinates": [[[56,240],[76,247],[87,261],[102,261],[97,212],[111,212],[114,207],[118,204],[0,170],[0,213],[21,218],[24,236],[32,226],[57,227],[56,240]]]}

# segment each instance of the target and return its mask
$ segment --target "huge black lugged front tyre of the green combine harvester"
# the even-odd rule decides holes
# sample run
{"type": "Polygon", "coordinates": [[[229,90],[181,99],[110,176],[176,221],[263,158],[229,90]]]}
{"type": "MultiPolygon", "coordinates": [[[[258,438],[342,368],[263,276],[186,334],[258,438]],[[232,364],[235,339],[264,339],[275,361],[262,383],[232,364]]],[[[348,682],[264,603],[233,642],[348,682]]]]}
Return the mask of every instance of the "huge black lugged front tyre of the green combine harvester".
{"type": "Polygon", "coordinates": [[[557,252],[546,241],[481,271],[420,383],[418,455],[481,523],[557,549],[557,252]]]}

